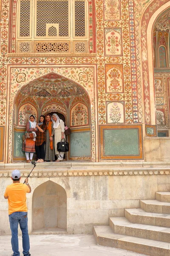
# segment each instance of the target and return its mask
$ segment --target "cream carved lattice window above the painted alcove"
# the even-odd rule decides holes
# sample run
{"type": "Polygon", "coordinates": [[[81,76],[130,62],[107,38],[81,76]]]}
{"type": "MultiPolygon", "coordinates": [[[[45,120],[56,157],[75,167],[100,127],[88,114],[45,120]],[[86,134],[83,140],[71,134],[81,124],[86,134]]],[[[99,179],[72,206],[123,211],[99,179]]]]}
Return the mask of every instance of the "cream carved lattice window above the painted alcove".
{"type": "Polygon", "coordinates": [[[19,0],[17,52],[87,52],[86,1],[19,0]]]}

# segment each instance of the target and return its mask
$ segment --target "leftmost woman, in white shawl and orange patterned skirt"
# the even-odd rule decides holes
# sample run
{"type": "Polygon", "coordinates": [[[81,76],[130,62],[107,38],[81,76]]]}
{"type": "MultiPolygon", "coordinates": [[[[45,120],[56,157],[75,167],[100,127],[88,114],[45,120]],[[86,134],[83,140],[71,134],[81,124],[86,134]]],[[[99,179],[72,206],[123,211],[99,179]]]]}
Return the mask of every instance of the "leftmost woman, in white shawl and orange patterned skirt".
{"type": "Polygon", "coordinates": [[[34,115],[29,116],[29,121],[26,123],[26,132],[32,133],[34,138],[27,138],[25,145],[26,162],[32,161],[33,154],[35,153],[35,137],[36,137],[36,120],[34,115]]]}

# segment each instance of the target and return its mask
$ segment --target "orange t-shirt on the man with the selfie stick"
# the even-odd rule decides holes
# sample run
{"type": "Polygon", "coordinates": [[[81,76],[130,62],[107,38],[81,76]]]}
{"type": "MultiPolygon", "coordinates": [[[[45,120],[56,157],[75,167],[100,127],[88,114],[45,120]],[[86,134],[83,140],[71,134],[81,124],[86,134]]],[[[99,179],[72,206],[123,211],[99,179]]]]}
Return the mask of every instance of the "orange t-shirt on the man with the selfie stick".
{"type": "Polygon", "coordinates": [[[12,183],[6,187],[4,196],[8,196],[8,212],[28,212],[26,204],[26,193],[29,188],[23,183],[12,183]]]}

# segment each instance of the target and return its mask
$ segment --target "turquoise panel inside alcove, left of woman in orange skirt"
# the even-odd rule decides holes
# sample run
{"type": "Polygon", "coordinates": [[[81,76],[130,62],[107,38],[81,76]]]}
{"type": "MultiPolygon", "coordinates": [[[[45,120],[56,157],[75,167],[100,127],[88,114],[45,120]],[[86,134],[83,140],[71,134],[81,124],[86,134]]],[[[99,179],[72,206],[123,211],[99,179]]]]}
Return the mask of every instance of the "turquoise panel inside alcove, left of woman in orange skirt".
{"type": "Polygon", "coordinates": [[[22,136],[25,132],[14,131],[14,157],[25,157],[25,153],[22,151],[22,136]]]}

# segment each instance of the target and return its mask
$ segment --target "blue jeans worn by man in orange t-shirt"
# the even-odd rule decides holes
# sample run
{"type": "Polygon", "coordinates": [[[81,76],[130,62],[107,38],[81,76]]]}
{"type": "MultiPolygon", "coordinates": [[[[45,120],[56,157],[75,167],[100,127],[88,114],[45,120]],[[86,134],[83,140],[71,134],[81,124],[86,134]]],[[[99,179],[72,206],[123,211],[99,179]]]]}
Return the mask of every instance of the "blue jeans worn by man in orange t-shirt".
{"type": "Polygon", "coordinates": [[[28,217],[27,212],[13,212],[9,215],[9,223],[11,228],[11,245],[14,256],[20,256],[18,246],[18,223],[22,231],[23,238],[23,255],[28,256],[29,252],[29,236],[28,236],[28,217]]]}

